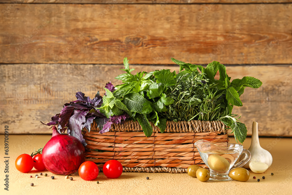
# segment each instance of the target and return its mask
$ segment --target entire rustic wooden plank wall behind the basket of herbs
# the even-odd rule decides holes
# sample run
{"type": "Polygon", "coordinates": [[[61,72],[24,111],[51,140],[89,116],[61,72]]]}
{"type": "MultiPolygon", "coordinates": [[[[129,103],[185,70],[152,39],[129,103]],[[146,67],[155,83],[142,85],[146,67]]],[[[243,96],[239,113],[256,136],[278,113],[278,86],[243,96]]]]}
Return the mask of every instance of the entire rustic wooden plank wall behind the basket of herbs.
{"type": "MultiPolygon", "coordinates": [[[[104,93],[131,68],[178,70],[171,57],[263,82],[234,108],[251,134],[292,136],[292,0],[0,0],[0,124],[50,133],[75,92],[104,93]]],[[[3,131],[1,130],[1,133],[3,131]]]]}

